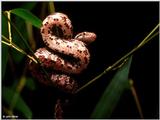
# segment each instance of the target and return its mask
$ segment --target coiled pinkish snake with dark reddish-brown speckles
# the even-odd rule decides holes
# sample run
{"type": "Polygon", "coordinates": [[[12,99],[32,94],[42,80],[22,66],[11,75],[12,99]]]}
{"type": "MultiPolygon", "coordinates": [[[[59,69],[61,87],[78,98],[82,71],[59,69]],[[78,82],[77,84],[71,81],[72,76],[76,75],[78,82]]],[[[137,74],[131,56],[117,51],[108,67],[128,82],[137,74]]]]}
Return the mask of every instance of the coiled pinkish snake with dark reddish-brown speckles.
{"type": "Polygon", "coordinates": [[[43,83],[52,83],[66,92],[73,93],[77,89],[77,82],[71,75],[79,75],[87,68],[90,62],[87,46],[95,41],[96,34],[84,31],[73,37],[71,20],[60,12],[48,15],[43,20],[40,33],[45,47],[37,49],[34,55],[42,67],[49,71],[50,80],[44,80],[44,73],[30,62],[33,76],[43,83]]]}

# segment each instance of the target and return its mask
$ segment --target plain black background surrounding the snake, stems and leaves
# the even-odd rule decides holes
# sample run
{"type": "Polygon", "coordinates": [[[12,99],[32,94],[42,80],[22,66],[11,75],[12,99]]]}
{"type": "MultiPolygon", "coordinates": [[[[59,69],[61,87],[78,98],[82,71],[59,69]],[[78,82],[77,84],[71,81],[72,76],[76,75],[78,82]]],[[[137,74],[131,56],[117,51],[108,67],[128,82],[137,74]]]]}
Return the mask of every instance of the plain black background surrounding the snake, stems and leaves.
{"type": "MultiPolygon", "coordinates": [[[[5,2],[2,10],[21,4],[5,2]]],[[[55,2],[54,5],[56,12],[69,16],[74,34],[82,31],[97,34],[96,41],[89,46],[91,62],[88,69],[77,78],[80,86],[138,45],[159,22],[159,2],[55,2]]],[[[38,2],[32,13],[43,20],[39,16],[41,7],[42,2],[38,2]]],[[[35,35],[40,38],[39,31],[35,35]]],[[[144,118],[159,116],[158,39],[156,37],[134,54],[129,74],[134,80],[144,118]]],[[[111,72],[103,76],[76,95],[66,95],[39,83],[35,91],[24,90],[22,95],[34,118],[53,118],[57,98],[69,99],[64,107],[65,118],[89,118],[113,75],[114,72],[111,72]]],[[[111,118],[140,118],[130,91],[122,95],[111,118]]]]}

